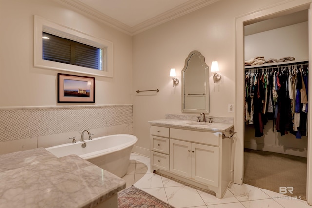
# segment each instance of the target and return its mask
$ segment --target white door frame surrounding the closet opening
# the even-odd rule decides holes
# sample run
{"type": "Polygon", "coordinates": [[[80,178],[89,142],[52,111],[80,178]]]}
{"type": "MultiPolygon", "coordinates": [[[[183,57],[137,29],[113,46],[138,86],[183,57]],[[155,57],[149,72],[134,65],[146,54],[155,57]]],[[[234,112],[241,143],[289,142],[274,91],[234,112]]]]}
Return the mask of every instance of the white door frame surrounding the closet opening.
{"type": "MultiPolygon", "coordinates": [[[[244,25],[291,14],[294,12],[308,10],[308,44],[309,44],[309,68],[312,61],[312,0],[287,0],[273,6],[236,17],[236,72],[235,72],[235,117],[234,126],[237,132],[234,138],[232,151],[233,159],[233,182],[242,184],[244,178],[244,25]]],[[[312,73],[309,73],[309,80],[312,80],[312,73]]],[[[312,103],[312,88],[309,85],[308,102],[312,103]]],[[[312,113],[308,112],[309,130],[312,129],[312,113]]],[[[311,132],[308,131],[308,154],[307,154],[307,203],[312,205],[312,142],[311,132]]]]}

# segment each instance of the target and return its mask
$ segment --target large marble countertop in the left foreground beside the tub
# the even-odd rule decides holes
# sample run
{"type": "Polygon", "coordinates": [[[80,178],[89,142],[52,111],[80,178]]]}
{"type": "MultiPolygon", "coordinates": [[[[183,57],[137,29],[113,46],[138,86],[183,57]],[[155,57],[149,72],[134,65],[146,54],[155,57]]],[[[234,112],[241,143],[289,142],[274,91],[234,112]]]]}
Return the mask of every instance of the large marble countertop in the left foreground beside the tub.
{"type": "Polygon", "coordinates": [[[0,155],[0,167],[5,208],[92,208],[126,187],[77,155],[57,158],[44,148],[0,155]]]}

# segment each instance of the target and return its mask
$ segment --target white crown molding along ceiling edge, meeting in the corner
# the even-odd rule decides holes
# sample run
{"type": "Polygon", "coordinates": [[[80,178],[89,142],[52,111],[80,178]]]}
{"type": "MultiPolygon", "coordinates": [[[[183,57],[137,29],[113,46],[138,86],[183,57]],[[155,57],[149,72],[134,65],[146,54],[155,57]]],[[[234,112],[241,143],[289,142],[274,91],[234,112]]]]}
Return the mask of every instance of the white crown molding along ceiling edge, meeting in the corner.
{"type": "Polygon", "coordinates": [[[193,12],[197,9],[205,7],[209,4],[212,4],[219,0],[190,0],[186,3],[183,3],[179,6],[176,6],[173,9],[170,9],[160,15],[157,15],[154,18],[148,19],[140,24],[137,24],[134,27],[130,27],[114,18],[105,15],[98,10],[78,1],[78,0],[54,0],[62,5],[70,6],[71,8],[75,9],[76,11],[87,15],[93,19],[97,19],[98,21],[113,27],[123,33],[128,35],[135,35],[145,30],[148,30],[152,27],[170,21],[172,19],[176,19],[180,16],[193,12]]]}

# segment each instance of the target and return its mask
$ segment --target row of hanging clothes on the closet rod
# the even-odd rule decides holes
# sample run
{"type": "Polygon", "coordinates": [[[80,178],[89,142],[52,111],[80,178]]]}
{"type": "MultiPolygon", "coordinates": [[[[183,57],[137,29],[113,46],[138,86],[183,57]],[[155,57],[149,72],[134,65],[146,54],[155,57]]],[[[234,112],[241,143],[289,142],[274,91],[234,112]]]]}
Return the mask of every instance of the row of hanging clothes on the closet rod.
{"type": "Polygon", "coordinates": [[[307,65],[299,70],[289,65],[245,72],[245,122],[254,125],[255,137],[263,136],[268,120],[281,136],[307,135],[307,65]]]}

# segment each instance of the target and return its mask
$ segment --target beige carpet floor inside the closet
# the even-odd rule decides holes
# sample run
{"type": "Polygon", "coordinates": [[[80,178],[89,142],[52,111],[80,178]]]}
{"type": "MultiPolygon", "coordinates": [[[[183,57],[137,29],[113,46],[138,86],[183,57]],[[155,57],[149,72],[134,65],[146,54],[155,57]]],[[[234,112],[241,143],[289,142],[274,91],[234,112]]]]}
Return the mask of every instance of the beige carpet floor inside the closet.
{"type": "Polygon", "coordinates": [[[268,151],[245,149],[244,183],[306,200],[307,158],[268,151]],[[287,188],[282,188],[286,192],[287,188]],[[288,188],[291,190],[292,188],[288,188]]]}

